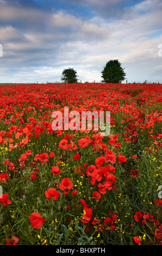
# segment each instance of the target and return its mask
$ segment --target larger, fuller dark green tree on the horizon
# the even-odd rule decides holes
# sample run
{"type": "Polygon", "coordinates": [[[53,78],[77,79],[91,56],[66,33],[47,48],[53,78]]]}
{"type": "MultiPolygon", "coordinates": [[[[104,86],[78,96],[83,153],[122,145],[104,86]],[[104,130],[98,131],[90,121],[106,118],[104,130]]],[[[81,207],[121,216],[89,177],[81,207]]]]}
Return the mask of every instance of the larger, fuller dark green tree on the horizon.
{"type": "Polygon", "coordinates": [[[104,83],[121,83],[125,79],[126,73],[121,67],[118,59],[109,60],[101,71],[104,83]]]}

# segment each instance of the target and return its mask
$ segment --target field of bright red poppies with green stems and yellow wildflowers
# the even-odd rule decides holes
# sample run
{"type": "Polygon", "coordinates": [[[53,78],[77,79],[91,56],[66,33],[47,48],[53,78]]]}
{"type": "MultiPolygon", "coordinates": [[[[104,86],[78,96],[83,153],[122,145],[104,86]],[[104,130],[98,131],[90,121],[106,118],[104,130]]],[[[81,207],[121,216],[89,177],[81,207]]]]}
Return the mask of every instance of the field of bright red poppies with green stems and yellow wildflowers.
{"type": "Polygon", "coordinates": [[[0,245],[161,245],[162,84],[4,84],[0,96],[0,245]],[[110,111],[110,135],[54,131],[64,107],[110,111]]]}

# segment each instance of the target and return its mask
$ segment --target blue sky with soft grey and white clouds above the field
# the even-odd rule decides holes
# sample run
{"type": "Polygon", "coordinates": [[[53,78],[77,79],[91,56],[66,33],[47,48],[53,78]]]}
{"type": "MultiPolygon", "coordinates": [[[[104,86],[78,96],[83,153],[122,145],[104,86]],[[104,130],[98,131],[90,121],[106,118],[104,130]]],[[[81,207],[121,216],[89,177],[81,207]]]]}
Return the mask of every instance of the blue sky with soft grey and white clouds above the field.
{"type": "Polygon", "coordinates": [[[61,82],[68,68],[101,82],[114,59],[128,83],[162,83],[161,13],[161,0],[0,0],[0,83],[61,82]]]}

